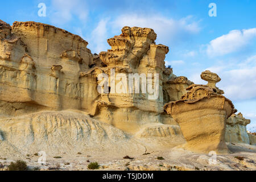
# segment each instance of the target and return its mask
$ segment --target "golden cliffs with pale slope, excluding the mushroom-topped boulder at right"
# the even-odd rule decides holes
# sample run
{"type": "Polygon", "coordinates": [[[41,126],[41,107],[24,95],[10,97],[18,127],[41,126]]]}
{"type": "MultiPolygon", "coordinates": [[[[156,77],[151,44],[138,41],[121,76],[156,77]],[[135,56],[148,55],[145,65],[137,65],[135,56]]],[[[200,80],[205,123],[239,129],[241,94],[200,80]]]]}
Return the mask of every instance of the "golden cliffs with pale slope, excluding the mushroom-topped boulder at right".
{"type": "MultiPolygon", "coordinates": [[[[162,146],[173,147],[185,142],[179,125],[163,112],[163,105],[167,102],[163,99],[163,86],[166,86],[170,98],[173,97],[170,92],[172,82],[168,80],[174,75],[164,66],[169,49],[155,44],[154,30],[124,27],[120,36],[108,40],[112,49],[100,55],[92,55],[86,48],[88,43],[80,36],[47,24],[14,22],[10,26],[1,21],[0,34],[0,139],[3,145],[9,143],[19,151],[22,148],[34,151],[39,148],[47,150],[42,141],[48,146],[63,143],[64,148],[68,148],[69,143],[76,151],[74,145],[93,142],[97,136],[86,136],[93,135],[94,122],[80,121],[81,115],[59,112],[70,109],[84,111],[93,119],[107,123],[104,126],[121,129],[116,130],[118,132],[134,134],[137,143],[148,142],[154,146],[163,143],[162,146]],[[110,93],[98,92],[101,82],[98,76],[105,73],[111,78],[112,69],[115,75],[121,73],[122,79],[126,77],[127,82],[130,73],[152,75],[151,90],[157,90],[157,94],[142,93],[142,88],[138,93],[115,92],[120,82],[125,83],[118,77],[114,82],[109,79],[110,93]],[[42,118],[36,120],[40,115],[42,118]],[[57,125],[53,126],[54,123],[57,125]],[[69,131],[72,134],[66,135],[69,131]],[[53,142],[56,136],[52,132],[63,134],[63,140],[53,142]]],[[[184,85],[177,92],[185,92],[187,82],[187,78],[185,84],[184,81],[176,82],[176,85],[184,85]]],[[[135,80],[133,86],[136,83],[135,80]]],[[[109,135],[108,131],[101,129],[102,126],[96,125],[95,129],[100,137],[96,140],[101,142],[104,141],[101,135],[109,135]]],[[[111,143],[110,138],[103,138],[111,143]]],[[[122,139],[117,137],[117,140],[122,139]]]]}

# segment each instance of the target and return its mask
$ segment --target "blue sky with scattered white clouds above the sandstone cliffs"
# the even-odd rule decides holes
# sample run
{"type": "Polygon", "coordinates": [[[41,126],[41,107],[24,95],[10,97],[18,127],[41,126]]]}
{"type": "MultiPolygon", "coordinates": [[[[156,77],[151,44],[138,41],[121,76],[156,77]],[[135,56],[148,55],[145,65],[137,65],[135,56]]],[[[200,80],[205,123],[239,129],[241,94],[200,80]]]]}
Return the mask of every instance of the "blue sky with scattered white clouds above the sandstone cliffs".
{"type": "Polygon", "coordinates": [[[156,43],[170,47],[166,64],[177,76],[205,84],[200,73],[218,73],[217,84],[233,101],[238,112],[251,119],[256,130],[256,1],[1,1],[0,19],[35,21],[64,28],[89,42],[92,53],[110,47],[106,39],[121,34],[123,26],[153,28],[156,43]],[[46,16],[38,16],[39,3],[46,16]],[[217,16],[210,17],[209,3],[216,3],[217,16]]]}

